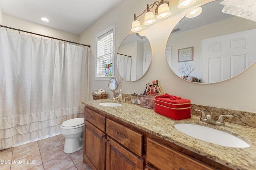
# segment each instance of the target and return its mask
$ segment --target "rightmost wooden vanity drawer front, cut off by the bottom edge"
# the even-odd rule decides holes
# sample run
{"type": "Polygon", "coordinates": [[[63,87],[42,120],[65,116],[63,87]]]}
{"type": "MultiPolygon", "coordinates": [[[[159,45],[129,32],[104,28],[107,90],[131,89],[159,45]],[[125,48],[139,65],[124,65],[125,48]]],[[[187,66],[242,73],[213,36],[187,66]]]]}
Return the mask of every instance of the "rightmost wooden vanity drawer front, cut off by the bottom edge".
{"type": "Polygon", "coordinates": [[[147,138],[146,161],[160,170],[215,170],[150,138],[147,138]]]}

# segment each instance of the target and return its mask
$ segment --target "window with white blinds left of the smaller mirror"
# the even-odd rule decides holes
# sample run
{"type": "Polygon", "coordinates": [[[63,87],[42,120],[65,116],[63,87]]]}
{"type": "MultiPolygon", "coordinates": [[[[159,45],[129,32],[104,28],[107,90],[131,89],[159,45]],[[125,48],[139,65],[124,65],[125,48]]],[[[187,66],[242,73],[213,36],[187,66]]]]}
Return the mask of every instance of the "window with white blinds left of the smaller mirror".
{"type": "Polygon", "coordinates": [[[113,75],[114,56],[114,27],[106,29],[97,38],[97,72],[96,77],[106,77],[113,75]],[[112,66],[112,68],[111,68],[112,66]]]}

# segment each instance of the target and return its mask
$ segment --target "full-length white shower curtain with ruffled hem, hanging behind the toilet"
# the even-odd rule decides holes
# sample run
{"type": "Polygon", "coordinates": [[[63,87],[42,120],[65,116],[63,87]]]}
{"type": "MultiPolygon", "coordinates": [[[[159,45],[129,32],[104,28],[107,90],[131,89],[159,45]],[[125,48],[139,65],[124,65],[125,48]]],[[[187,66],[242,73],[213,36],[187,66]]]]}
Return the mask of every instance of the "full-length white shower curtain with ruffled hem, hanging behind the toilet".
{"type": "Polygon", "coordinates": [[[0,29],[0,150],[58,133],[83,112],[89,50],[0,29]]]}

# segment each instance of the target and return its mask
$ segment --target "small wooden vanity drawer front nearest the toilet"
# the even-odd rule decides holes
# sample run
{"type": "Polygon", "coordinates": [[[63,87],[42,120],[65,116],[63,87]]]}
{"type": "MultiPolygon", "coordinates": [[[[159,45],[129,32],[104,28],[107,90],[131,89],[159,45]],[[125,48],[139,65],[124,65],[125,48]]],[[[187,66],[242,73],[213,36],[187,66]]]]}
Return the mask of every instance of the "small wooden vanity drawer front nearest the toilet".
{"type": "Polygon", "coordinates": [[[98,129],[104,132],[106,131],[106,117],[86,108],[84,109],[84,118],[94,124],[98,129]]]}

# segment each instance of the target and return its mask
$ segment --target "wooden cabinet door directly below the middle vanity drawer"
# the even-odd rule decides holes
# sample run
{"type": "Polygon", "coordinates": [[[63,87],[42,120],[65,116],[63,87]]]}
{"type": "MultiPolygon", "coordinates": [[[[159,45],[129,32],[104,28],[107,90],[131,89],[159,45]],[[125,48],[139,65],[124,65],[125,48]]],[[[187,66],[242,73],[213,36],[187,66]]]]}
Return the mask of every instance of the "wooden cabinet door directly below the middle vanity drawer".
{"type": "Polygon", "coordinates": [[[107,137],[106,170],[143,170],[144,160],[107,137]]]}

